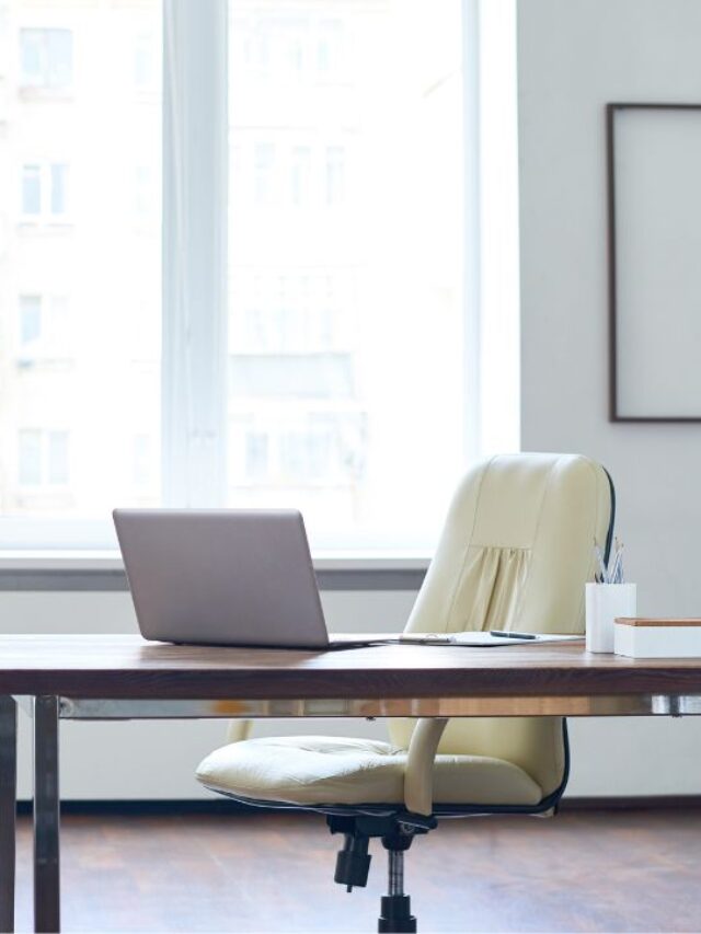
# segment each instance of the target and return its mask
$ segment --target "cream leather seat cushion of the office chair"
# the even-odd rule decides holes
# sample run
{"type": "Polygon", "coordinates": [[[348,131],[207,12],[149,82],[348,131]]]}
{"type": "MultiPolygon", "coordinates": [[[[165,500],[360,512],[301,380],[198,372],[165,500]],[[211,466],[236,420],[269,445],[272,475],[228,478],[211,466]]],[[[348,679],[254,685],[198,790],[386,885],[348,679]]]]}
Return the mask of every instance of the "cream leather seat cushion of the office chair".
{"type": "MultiPolygon", "coordinates": [[[[216,749],[197,779],[223,794],[296,805],[401,804],[406,750],[370,739],[289,736],[216,749]]],[[[522,769],[483,756],[436,757],[436,804],[537,805],[543,795],[522,769]]]]}

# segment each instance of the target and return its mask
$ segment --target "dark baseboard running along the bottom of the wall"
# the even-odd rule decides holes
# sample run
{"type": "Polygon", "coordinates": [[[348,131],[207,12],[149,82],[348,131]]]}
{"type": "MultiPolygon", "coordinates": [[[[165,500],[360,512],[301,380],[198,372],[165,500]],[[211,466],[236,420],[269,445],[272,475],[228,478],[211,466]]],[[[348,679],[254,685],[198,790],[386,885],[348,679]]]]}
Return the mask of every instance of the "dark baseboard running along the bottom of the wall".
{"type": "MultiPolygon", "coordinates": [[[[701,795],[634,795],[627,797],[563,798],[560,811],[595,810],[694,810],[701,808],[701,795]]],[[[179,814],[280,814],[275,808],[250,807],[227,798],[214,800],[69,800],[61,802],[62,814],[172,815],[179,814]]],[[[18,814],[32,812],[32,802],[18,802],[18,814]]]]}

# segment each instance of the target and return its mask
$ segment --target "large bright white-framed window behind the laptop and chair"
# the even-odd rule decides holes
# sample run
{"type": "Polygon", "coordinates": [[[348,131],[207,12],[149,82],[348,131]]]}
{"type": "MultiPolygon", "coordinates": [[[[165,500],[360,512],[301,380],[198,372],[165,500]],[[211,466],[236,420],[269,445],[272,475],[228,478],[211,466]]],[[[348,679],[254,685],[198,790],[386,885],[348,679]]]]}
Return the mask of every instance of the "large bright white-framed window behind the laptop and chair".
{"type": "Polygon", "coordinates": [[[291,506],[430,549],[493,335],[476,3],[0,0],[5,544],[291,506]]]}

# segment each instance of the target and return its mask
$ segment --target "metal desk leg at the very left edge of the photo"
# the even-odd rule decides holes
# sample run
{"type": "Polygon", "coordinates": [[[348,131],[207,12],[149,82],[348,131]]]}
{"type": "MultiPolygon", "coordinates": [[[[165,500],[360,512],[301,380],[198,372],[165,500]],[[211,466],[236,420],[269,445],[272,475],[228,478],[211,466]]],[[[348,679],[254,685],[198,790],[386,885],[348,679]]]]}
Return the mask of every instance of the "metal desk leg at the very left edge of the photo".
{"type": "Polygon", "coordinates": [[[0,695],[0,931],[14,931],[18,707],[0,695]]]}

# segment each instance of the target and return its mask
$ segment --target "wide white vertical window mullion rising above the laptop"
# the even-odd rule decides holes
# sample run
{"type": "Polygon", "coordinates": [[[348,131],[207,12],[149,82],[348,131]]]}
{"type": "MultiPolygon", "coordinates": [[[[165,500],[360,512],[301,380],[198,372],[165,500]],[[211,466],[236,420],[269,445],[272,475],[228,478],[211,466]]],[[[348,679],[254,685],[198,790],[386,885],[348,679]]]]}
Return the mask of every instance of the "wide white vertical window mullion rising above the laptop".
{"type": "Polygon", "coordinates": [[[227,0],[163,8],[163,503],[226,496],[227,0]]]}

